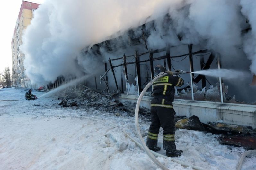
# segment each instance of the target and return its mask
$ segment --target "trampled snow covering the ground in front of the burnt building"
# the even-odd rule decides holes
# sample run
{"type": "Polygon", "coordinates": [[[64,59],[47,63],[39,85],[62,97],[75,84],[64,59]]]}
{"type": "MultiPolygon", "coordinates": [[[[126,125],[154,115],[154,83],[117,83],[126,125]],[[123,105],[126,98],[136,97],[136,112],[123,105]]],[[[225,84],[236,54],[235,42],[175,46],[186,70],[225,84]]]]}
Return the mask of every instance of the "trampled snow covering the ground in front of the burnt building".
{"type": "MultiPolygon", "coordinates": [[[[1,170],[158,169],[145,151],[121,131],[139,141],[130,114],[83,106],[63,108],[56,97],[28,101],[24,95],[24,89],[0,89],[1,170]]],[[[146,117],[140,118],[142,134],[147,134],[149,124],[146,117]]],[[[160,132],[160,138],[161,135],[160,132]]],[[[245,149],[220,145],[216,137],[177,129],[176,145],[183,154],[175,159],[202,169],[235,169],[245,149]]],[[[171,158],[157,159],[169,169],[192,169],[172,162],[171,158]]],[[[256,157],[246,158],[242,169],[256,169],[256,157]]]]}

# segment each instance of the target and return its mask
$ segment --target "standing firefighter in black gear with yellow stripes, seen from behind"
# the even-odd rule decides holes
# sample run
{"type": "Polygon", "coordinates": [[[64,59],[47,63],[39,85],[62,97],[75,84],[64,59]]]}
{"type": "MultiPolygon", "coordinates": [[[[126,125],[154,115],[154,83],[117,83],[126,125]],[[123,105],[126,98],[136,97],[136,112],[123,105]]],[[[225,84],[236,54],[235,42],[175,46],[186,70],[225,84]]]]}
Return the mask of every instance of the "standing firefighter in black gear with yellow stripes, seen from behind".
{"type": "Polygon", "coordinates": [[[166,71],[162,65],[154,68],[155,77],[159,73],[167,72],[168,75],[159,78],[153,83],[153,95],[151,100],[151,125],[148,130],[146,145],[150,150],[159,151],[157,137],[160,127],[163,128],[163,149],[168,157],[180,156],[182,150],[177,150],[175,145],[175,122],[176,114],[172,102],[174,99],[174,86],[180,87],[184,84],[181,77],[173,75],[171,71],[166,71]]]}

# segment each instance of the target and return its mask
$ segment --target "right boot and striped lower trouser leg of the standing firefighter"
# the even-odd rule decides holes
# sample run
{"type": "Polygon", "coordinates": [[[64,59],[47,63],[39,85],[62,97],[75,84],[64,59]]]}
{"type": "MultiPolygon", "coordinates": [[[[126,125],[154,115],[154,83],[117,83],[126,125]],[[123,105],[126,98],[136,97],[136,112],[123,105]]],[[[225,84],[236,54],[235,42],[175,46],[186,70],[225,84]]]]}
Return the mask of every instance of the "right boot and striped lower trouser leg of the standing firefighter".
{"type": "Polygon", "coordinates": [[[163,149],[166,150],[167,157],[178,157],[183,152],[176,149],[174,134],[163,135],[163,149]]]}

